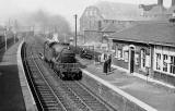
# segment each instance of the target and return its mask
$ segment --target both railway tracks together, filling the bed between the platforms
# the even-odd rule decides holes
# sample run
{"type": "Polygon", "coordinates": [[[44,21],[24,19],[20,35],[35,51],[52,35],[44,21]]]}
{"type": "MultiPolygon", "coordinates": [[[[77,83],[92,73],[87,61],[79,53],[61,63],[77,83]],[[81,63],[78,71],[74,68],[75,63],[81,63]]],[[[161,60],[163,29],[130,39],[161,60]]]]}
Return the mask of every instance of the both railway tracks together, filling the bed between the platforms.
{"type": "MultiPolygon", "coordinates": [[[[35,42],[35,41],[34,41],[35,42]]],[[[30,44],[28,44],[30,45],[30,44]]],[[[26,47],[25,67],[36,104],[43,111],[116,111],[79,81],[62,81],[38,58],[43,47],[26,47]]],[[[25,49],[25,48],[24,48],[25,49]]]]}

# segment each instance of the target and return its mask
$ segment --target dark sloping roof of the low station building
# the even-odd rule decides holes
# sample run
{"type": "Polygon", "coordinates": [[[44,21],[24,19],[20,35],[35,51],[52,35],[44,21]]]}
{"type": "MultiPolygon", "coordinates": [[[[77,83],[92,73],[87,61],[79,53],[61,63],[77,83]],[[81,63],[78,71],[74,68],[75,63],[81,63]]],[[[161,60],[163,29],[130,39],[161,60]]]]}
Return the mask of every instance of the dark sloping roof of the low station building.
{"type": "Polygon", "coordinates": [[[175,25],[170,23],[138,24],[113,34],[110,39],[175,46],[175,25]]]}

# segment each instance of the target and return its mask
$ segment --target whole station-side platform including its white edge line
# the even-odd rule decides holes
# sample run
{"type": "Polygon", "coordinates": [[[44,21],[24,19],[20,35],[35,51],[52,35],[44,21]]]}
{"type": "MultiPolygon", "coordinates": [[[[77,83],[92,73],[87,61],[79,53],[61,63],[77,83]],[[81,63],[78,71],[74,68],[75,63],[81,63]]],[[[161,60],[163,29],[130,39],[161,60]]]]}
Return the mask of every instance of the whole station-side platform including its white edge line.
{"type": "MultiPolygon", "coordinates": [[[[136,106],[133,106],[135,108],[132,107],[132,110],[130,107],[130,110],[127,111],[175,111],[175,92],[173,89],[170,89],[154,82],[148,82],[145,79],[139,78],[116,67],[113,67],[112,73],[106,75],[103,73],[103,65],[96,65],[93,61],[86,61],[80,58],[79,60],[84,65],[84,69],[82,69],[84,74],[94,77],[105,86],[110,87],[113,90],[117,91],[117,98],[120,99],[120,101],[116,100],[118,104],[124,104],[120,102],[126,102],[124,98],[127,98],[127,100],[143,109],[136,110],[136,106]]],[[[93,85],[95,87],[95,83],[93,83],[93,85]]],[[[97,88],[100,86],[101,84],[97,83],[97,88]]],[[[105,90],[104,87],[101,88],[105,90]]],[[[110,95],[108,89],[106,89],[106,92],[102,92],[101,95],[106,96],[105,98],[109,98],[110,100],[116,98],[108,96],[110,95]]],[[[112,92],[112,95],[114,94],[112,92]]],[[[118,107],[118,109],[122,108],[118,107]]]]}

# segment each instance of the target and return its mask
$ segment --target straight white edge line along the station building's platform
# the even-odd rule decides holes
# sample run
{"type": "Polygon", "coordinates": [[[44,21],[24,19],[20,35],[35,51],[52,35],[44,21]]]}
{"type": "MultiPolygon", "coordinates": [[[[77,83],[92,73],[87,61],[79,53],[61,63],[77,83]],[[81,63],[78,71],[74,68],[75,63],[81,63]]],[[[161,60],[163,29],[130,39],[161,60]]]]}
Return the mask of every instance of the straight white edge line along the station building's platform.
{"type": "Polygon", "coordinates": [[[147,111],[158,111],[156,109],[152,108],[151,106],[149,106],[149,104],[142,102],[141,100],[135,98],[133,96],[125,92],[124,90],[117,88],[116,86],[109,84],[108,82],[106,82],[106,81],[104,81],[104,79],[95,76],[94,74],[88,72],[86,70],[83,70],[83,69],[82,69],[82,72],[85,73],[85,74],[88,74],[88,75],[90,75],[91,77],[93,77],[93,78],[96,79],[97,82],[104,84],[104,85],[107,86],[108,88],[115,90],[116,92],[118,92],[119,95],[124,96],[124,97],[127,98],[128,100],[130,100],[130,101],[135,102],[136,104],[140,106],[140,107],[143,108],[144,110],[147,110],[147,111]]]}

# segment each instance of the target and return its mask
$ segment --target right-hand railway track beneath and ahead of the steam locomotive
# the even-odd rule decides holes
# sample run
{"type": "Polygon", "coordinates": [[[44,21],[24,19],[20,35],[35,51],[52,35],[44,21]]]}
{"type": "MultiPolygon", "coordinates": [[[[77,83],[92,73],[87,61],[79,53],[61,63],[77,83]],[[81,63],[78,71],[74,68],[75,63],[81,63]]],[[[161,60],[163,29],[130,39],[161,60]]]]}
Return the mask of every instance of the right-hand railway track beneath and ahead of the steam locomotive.
{"type": "MultiPolygon", "coordinates": [[[[39,48],[39,47],[38,47],[39,48]]],[[[35,48],[35,53],[39,53],[40,49],[35,48]]],[[[116,111],[113,107],[108,106],[101,98],[96,97],[90,89],[88,89],[81,82],[79,81],[61,81],[57,73],[52,71],[45,62],[38,61],[38,65],[45,66],[48,69],[49,74],[57,82],[57,86],[59,88],[55,89],[59,92],[67,94],[71,101],[83,111],[116,111]]],[[[60,94],[61,95],[61,94],[60,94]]]]}

